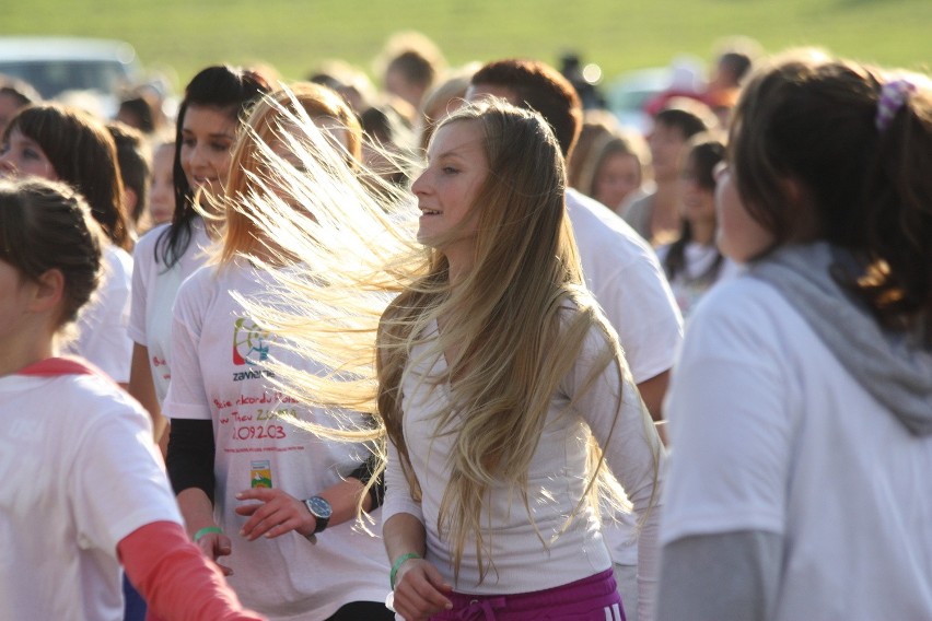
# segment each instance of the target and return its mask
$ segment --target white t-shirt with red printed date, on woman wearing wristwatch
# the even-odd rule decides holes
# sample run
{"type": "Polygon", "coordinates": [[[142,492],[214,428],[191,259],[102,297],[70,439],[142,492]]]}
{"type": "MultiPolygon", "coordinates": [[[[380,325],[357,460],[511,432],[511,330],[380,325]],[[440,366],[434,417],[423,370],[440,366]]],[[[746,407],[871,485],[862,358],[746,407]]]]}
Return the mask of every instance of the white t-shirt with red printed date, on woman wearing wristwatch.
{"type": "MultiPolygon", "coordinates": [[[[316,546],[298,532],[247,541],[236,534],[247,517],[236,515],[234,494],[253,482],[311,497],[338,483],[369,456],[360,444],[329,442],[273,415],[336,424],[333,414],[281,395],[265,361],[307,373],[323,370],[287,350],[245,314],[237,292],[258,300],[272,277],[249,265],[207,266],[178,292],[173,325],[173,378],[165,400],[172,419],[213,422],[217,447],[214,514],[233,540],[223,562],[243,605],[269,619],[326,619],[350,601],[384,601],[388,561],[382,540],[358,530],[354,520],[329,526],[316,546]]],[[[373,512],[381,531],[381,511],[373,512]]]]}

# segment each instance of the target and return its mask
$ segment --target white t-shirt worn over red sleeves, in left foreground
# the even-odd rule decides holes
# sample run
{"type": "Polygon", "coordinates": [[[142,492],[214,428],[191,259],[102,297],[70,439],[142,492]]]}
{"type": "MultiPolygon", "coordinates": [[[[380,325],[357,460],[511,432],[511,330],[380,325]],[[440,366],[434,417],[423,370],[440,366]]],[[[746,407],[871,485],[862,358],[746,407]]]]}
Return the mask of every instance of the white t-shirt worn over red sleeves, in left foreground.
{"type": "Polygon", "coordinates": [[[97,375],[8,375],[0,421],[0,619],[123,619],[117,543],[182,523],[148,414],[97,375]]]}

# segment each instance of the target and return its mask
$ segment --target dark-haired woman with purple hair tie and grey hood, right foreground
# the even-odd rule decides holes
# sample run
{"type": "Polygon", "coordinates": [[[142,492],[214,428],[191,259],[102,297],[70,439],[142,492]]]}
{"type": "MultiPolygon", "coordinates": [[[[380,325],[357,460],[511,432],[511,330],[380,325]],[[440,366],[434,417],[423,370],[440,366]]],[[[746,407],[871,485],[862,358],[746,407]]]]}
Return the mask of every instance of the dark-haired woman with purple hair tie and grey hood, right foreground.
{"type": "Polygon", "coordinates": [[[674,368],[657,618],[932,619],[932,80],[782,55],[729,165],[748,270],[674,368]]]}

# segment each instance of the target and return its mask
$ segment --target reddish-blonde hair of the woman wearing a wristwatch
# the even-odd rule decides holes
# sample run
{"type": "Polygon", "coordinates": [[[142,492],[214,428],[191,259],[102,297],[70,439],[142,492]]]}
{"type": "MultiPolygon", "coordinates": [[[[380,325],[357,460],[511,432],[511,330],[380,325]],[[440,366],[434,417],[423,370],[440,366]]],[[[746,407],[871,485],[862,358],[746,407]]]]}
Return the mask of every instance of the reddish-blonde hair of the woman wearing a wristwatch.
{"type": "MultiPolygon", "coordinates": [[[[232,199],[243,209],[220,210],[225,222],[221,262],[241,254],[255,253],[264,243],[255,216],[246,213],[245,209],[248,206],[259,208],[263,200],[255,199],[263,195],[266,200],[275,200],[276,196],[280,198],[284,194],[283,189],[276,191],[275,188],[287,185],[288,176],[281,171],[293,164],[277,156],[272,150],[280,144],[295,157],[310,156],[308,150],[302,149],[303,131],[299,128],[310,129],[315,121],[345,137],[346,145],[334,139],[333,148],[342,153],[349,168],[359,167],[362,130],[357,116],[335,91],[321,84],[301,82],[259,99],[243,122],[233,147],[230,176],[221,202],[232,199]]],[[[303,171],[305,166],[300,168],[303,171]]],[[[278,245],[273,249],[281,250],[278,245]]]]}

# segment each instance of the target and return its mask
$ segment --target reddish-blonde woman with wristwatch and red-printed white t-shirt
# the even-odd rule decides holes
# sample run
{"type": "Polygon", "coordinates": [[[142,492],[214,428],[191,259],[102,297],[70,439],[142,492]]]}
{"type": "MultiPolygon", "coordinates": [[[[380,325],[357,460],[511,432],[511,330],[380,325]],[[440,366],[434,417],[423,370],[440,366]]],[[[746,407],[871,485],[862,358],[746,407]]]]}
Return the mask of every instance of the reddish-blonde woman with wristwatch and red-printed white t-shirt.
{"type": "Polygon", "coordinates": [[[359,124],[324,86],[273,93],[245,121],[224,196],[246,209],[220,210],[220,248],[182,285],[175,303],[164,407],[172,419],[168,471],[190,536],[220,560],[248,606],[269,619],[388,621],[382,544],[351,522],[360,504],[374,511],[381,500],[375,488],[363,492],[370,452],[281,420],[321,423],[326,414],[282,395],[269,363],[279,360],[305,374],[327,368],[265,329],[243,303],[267,295],[276,271],[302,269],[295,256],[282,256],[288,244],[281,237],[256,224],[264,199],[300,209],[278,173],[303,175],[307,165],[294,154],[299,122],[329,137],[324,147],[339,150],[345,166],[359,159],[359,124]]]}

